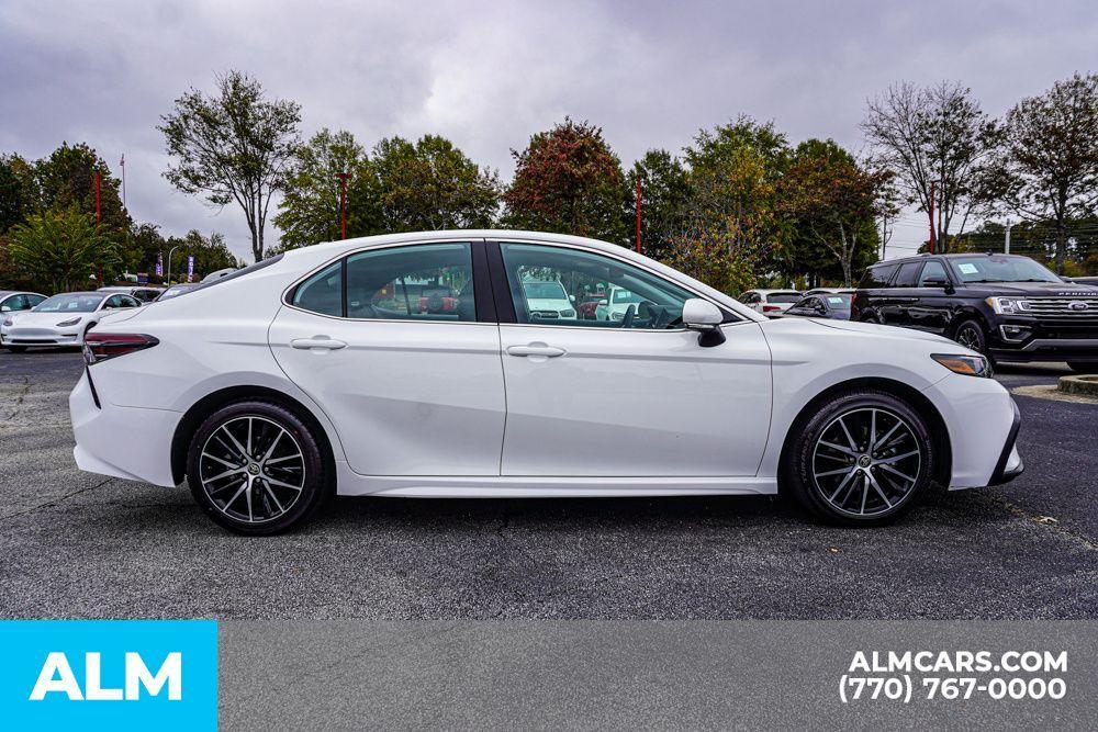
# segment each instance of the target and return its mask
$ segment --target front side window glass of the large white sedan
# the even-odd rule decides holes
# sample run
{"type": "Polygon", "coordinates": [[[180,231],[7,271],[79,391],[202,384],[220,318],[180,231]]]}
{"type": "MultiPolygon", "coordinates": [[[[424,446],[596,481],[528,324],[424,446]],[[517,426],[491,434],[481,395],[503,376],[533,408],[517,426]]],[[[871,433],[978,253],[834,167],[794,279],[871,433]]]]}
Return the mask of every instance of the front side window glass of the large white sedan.
{"type": "Polygon", "coordinates": [[[683,304],[694,297],[663,278],[612,257],[531,244],[502,244],[501,249],[518,323],[674,329],[682,327],[683,304]],[[533,297],[526,286],[533,282],[551,285],[558,299],[533,297]]]}

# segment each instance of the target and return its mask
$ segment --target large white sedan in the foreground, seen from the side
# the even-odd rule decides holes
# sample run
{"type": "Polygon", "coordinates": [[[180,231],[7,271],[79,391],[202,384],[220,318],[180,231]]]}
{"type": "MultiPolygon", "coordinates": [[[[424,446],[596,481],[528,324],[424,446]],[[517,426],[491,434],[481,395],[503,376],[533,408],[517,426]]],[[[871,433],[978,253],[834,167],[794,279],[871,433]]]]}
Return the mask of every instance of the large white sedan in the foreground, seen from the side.
{"type": "Polygon", "coordinates": [[[916,330],[768,320],[647,257],[466,230],[288,251],[88,334],[82,469],[176,486],[242,533],[325,496],[765,495],[896,518],[931,482],[1022,470],[987,361],[916,330]],[[624,320],[538,322],[522,272],[637,293],[624,320]],[[404,282],[458,293],[422,312],[404,282]],[[119,435],[126,439],[120,440],[119,435]]]}

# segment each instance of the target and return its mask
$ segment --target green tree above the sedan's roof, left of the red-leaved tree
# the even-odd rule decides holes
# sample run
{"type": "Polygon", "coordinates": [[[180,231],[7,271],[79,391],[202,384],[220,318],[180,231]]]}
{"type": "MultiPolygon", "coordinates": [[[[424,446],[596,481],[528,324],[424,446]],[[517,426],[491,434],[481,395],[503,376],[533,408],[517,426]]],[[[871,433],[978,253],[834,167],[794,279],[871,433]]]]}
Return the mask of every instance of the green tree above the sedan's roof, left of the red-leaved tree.
{"type": "MultiPolygon", "coordinates": [[[[419,232],[447,228],[484,228],[500,207],[498,176],[479,168],[453,143],[424,135],[415,143],[403,137],[382,139],[373,148],[374,191],[381,230],[419,232]]],[[[367,190],[363,190],[367,189],[367,190]]],[[[362,201],[357,200],[356,206],[362,201]]]]}

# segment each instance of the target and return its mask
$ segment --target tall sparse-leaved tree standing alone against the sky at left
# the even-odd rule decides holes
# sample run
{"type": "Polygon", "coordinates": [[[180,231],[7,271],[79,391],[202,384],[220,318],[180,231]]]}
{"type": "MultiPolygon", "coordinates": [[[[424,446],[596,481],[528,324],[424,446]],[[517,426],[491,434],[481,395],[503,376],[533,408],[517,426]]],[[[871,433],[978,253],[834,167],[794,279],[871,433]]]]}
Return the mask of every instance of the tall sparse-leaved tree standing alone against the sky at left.
{"type": "Polygon", "coordinates": [[[268,100],[257,80],[234,70],[219,77],[216,97],[191,89],[161,120],[157,128],[178,160],[165,178],[217,207],[235,201],[251,233],[251,254],[261,260],[271,199],[298,149],[301,105],[268,100]]]}

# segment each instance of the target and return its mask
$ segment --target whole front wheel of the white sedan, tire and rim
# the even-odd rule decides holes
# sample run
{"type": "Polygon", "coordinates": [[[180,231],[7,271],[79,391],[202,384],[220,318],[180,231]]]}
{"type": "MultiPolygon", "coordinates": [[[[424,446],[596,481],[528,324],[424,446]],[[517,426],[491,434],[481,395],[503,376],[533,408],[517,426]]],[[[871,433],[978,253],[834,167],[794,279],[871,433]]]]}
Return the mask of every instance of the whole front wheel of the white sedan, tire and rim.
{"type": "Polygon", "coordinates": [[[888,392],[878,390],[839,392],[806,419],[795,424],[793,429],[794,432],[784,453],[782,489],[792,495],[810,514],[830,523],[842,526],[889,523],[911,509],[934,475],[938,455],[926,420],[910,404],[888,392]],[[840,418],[843,418],[841,425],[840,418]],[[848,419],[852,420],[850,426],[845,425],[848,419]],[[866,419],[869,421],[863,425],[866,419]],[[899,423],[896,427],[898,431],[885,433],[897,423],[899,423]],[[840,427],[842,431],[839,430],[840,427]],[[870,457],[870,462],[874,464],[861,468],[859,460],[863,458],[859,455],[867,454],[865,448],[870,429],[873,427],[879,428],[876,432],[878,442],[883,438],[887,439],[870,457]],[[841,437],[832,438],[832,430],[841,437]],[[821,440],[830,442],[831,439],[843,439],[849,448],[847,431],[858,443],[859,450],[852,451],[856,454],[844,455],[819,444],[821,440]],[[916,447],[919,450],[917,457],[897,460],[897,455],[903,457],[916,447]],[[875,463],[878,459],[884,461],[881,464],[887,464],[906,475],[914,473],[910,477],[915,480],[900,483],[892,473],[886,472],[887,469],[875,463]],[[826,475],[828,471],[833,470],[830,468],[832,464],[845,472],[833,476],[826,475]],[[820,470],[820,466],[827,466],[828,470],[820,470]],[[873,475],[873,481],[866,478],[867,471],[873,475]],[[820,472],[825,475],[818,476],[817,473],[820,472]],[[848,476],[848,473],[853,475],[848,476]],[[844,480],[849,483],[844,483],[844,480]],[[876,482],[876,487],[872,487],[873,482],[876,482]],[[839,491],[836,491],[837,487],[839,491]],[[877,491],[877,487],[881,491],[877,491]]]}

